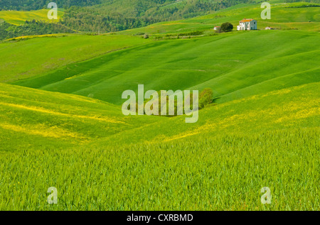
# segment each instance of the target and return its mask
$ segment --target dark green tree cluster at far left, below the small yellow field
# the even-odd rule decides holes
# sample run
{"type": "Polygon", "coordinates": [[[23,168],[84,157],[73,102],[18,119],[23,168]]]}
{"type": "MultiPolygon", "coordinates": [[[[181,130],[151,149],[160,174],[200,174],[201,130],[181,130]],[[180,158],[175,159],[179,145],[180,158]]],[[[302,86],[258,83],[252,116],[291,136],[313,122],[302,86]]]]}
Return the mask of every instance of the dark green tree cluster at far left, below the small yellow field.
{"type": "Polygon", "coordinates": [[[51,33],[74,33],[74,31],[58,23],[46,23],[34,20],[26,21],[26,23],[21,26],[14,26],[6,22],[0,23],[0,40],[26,35],[43,35],[51,33]]]}

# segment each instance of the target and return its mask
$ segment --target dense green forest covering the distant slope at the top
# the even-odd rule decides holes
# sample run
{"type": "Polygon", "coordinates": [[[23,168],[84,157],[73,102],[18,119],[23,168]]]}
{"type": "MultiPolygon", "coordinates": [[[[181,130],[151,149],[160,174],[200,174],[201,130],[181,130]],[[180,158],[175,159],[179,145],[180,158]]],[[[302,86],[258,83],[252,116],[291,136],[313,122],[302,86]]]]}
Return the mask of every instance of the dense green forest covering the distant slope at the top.
{"type": "Polygon", "coordinates": [[[114,0],[92,7],[72,6],[61,22],[77,31],[110,32],[161,21],[205,15],[251,0],[114,0]]]}

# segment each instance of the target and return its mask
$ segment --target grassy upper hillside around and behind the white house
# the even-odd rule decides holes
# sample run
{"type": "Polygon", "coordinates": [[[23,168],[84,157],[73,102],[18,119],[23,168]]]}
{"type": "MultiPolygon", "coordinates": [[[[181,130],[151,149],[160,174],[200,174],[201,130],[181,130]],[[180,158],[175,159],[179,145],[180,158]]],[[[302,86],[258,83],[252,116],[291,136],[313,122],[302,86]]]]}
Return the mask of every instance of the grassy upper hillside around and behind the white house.
{"type": "Polygon", "coordinates": [[[121,31],[125,34],[149,33],[168,34],[186,33],[191,31],[209,31],[214,26],[220,26],[228,21],[233,23],[236,30],[242,18],[254,18],[257,20],[257,28],[265,29],[267,26],[273,28],[292,29],[297,28],[304,31],[320,31],[320,4],[295,2],[283,3],[283,1],[268,1],[271,4],[271,19],[262,20],[260,4],[238,4],[228,9],[223,9],[207,16],[181,21],[170,21],[155,23],[144,28],[137,28],[128,31],[121,31]],[[312,7],[302,7],[312,6],[312,7]],[[317,6],[317,7],[316,7],[317,6]]]}

